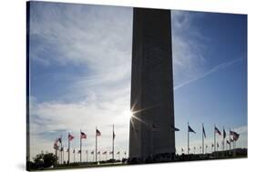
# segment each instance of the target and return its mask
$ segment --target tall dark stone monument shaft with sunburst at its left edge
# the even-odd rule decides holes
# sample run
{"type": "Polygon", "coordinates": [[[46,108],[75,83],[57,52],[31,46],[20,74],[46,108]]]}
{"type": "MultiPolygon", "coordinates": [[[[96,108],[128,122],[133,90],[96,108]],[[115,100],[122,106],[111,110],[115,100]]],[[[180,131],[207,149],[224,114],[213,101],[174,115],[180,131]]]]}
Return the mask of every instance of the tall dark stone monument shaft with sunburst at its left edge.
{"type": "Polygon", "coordinates": [[[129,158],[175,156],[173,72],[169,10],[134,8],[129,158]]]}

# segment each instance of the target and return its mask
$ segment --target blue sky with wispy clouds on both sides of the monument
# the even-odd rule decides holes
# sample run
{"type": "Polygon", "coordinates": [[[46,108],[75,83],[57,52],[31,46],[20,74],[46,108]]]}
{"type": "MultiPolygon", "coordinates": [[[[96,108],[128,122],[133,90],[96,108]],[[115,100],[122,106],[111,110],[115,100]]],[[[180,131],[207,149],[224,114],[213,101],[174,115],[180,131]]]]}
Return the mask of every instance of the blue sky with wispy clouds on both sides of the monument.
{"type": "MultiPolygon", "coordinates": [[[[172,11],[172,43],[178,153],[188,121],[191,147],[201,123],[208,145],[216,124],[247,147],[247,16],[172,11]]],[[[110,151],[112,124],[116,149],[128,152],[132,8],[32,2],[29,44],[32,157],[60,135],[67,147],[67,132],[80,129],[91,151],[95,126],[99,149],[110,151]]]]}

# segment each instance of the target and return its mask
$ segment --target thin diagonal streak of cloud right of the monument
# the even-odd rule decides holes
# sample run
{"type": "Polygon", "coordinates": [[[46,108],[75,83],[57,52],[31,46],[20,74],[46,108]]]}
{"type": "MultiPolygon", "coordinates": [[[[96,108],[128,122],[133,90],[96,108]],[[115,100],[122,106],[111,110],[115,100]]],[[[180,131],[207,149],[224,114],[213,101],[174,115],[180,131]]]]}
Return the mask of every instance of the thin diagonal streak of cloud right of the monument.
{"type": "Polygon", "coordinates": [[[229,66],[232,66],[232,65],[234,65],[234,64],[236,64],[236,63],[239,63],[239,62],[241,62],[241,60],[242,60],[242,57],[241,57],[241,58],[234,59],[234,60],[231,60],[230,62],[222,63],[222,64],[220,64],[219,66],[214,66],[214,67],[211,68],[209,71],[207,71],[207,72],[205,72],[205,73],[203,73],[203,74],[201,74],[201,75],[199,75],[199,76],[194,76],[193,78],[191,78],[191,79],[189,79],[189,80],[187,80],[187,81],[185,81],[185,82],[179,84],[178,86],[174,86],[174,90],[177,90],[177,89],[179,89],[179,88],[182,87],[182,86],[187,86],[187,85],[189,85],[190,83],[195,82],[195,81],[197,81],[197,80],[199,80],[199,79],[201,79],[201,78],[203,78],[203,77],[209,76],[210,74],[212,74],[212,73],[214,73],[214,72],[223,70],[223,69],[225,69],[225,68],[227,68],[227,67],[229,67],[229,66]]]}

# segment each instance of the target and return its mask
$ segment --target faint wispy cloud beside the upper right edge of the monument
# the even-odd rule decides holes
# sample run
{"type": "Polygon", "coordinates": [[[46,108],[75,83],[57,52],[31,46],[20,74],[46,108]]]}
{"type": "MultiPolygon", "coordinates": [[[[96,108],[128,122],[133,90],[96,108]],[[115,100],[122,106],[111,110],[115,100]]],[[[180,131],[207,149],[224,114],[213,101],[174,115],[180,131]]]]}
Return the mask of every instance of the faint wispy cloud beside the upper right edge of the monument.
{"type": "Polygon", "coordinates": [[[202,13],[172,11],[171,15],[174,86],[177,86],[202,72],[208,59],[205,52],[210,38],[193,25],[204,16],[202,13]]]}

